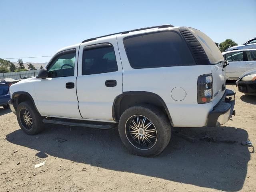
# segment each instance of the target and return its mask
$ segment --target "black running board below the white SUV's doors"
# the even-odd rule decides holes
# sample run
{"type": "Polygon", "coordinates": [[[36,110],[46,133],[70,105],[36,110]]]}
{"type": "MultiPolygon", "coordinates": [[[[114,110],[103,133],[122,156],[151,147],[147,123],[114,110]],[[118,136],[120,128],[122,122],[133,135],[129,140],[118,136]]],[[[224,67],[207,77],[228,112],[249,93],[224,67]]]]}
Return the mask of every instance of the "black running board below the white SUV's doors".
{"type": "Polygon", "coordinates": [[[46,117],[43,119],[43,122],[50,123],[50,124],[67,125],[67,126],[75,126],[75,127],[89,127],[89,128],[97,128],[97,129],[113,129],[118,126],[117,123],[95,122],[95,121],[53,118],[53,117],[46,117]]]}

